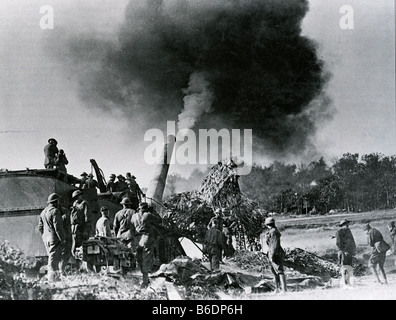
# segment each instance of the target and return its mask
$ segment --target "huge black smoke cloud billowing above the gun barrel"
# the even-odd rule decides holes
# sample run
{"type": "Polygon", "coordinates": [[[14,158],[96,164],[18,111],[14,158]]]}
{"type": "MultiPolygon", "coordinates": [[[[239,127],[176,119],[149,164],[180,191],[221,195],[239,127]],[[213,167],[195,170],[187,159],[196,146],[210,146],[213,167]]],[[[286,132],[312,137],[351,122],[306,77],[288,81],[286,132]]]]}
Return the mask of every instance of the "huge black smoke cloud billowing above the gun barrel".
{"type": "MultiPolygon", "coordinates": [[[[114,41],[71,37],[85,101],[177,121],[191,75],[205,75],[210,108],[195,128],[253,129],[273,154],[299,153],[331,115],[329,75],[301,35],[306,0],[131,1],[114,41]]],[[[205,104],[203,104],[205,105],[205,104]]]]}

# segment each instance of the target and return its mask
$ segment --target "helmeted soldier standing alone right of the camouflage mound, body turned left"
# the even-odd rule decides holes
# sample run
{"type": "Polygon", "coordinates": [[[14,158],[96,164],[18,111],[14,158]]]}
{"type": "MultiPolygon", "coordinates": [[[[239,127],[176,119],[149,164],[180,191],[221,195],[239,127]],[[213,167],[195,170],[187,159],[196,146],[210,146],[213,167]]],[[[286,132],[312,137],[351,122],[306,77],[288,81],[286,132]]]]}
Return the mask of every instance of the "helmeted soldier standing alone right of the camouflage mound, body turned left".
{"type": "Polygon", "coordinates": [[[267,256],[271,262],[271,271],[275,278],[276,292],[281,290],[282,293],[287,291],[286,276],[283,267],[283,260],[285,252],[281,246],[281,234],[275,226],[275,219],[268,217],[265,219],[265,227],[267,230],[264,232],[264,239],[268,247],[267,256]]]}

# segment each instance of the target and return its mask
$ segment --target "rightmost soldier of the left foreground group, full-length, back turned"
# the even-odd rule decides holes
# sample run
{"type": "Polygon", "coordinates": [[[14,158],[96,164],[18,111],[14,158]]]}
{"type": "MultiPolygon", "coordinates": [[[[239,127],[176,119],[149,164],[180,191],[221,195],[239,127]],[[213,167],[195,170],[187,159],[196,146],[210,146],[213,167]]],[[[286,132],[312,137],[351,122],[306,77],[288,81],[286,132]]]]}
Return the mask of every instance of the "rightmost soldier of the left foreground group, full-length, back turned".
{"type": "Polygon", "coordinates": [[[132,224],[138,244],[136,255],[140,271],[143,275],[142,287],[144,288],[149,284],[148,273],[153,267],[155,226],[159,222],[158,217],[150,212],[146,202],[141,202],[138,212],[132,216],[132,224]]]}

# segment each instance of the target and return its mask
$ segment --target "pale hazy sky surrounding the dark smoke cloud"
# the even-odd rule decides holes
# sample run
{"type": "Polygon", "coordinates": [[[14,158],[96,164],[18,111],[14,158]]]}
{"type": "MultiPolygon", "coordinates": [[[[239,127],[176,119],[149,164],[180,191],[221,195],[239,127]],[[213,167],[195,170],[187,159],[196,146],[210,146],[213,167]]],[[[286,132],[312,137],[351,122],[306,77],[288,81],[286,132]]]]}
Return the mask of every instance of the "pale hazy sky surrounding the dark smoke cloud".
{"type": "MultiPolygon", "coordinates": [[[[43,148],[54,137],[68,172],[90,171],[96,159],[106,179],[132,172],[147,186],[141,119],[88,108],[77,90],[76,66],[48,52],[54,30],[40,28],[40,7],[54,9],[54,28],[113,39],[127,0],[2,0],[0,2],[0,168],[43,168],[43,148]]],[[[310,0],[303,34],[314,39],[332,74],[326,92],[335,114],[315,138],[329,161],[345,152],[396,154],[395,25],[391,0],[310,0]],[[354,10],[354,29],[342,30],[343,5],[354,10]]],[[[52,40],[54,41],[54,40],[52,40]]],[[[55,40],[56,41],[56,40],[55,40]]],[[[56,44],[55,44],[56,45],[56,44]]],[[[59,53],[61,55],[61,53],[59,53]]],[[[175,119],[164,119],[175,120],[175,119]]],[[[261,159],[254,159],[261,160],[261,159]]],[[[316,160],[316,159],[313,159],[316,160]]],[[[171,172],[188,170],[173,167],[171,172]]]]}

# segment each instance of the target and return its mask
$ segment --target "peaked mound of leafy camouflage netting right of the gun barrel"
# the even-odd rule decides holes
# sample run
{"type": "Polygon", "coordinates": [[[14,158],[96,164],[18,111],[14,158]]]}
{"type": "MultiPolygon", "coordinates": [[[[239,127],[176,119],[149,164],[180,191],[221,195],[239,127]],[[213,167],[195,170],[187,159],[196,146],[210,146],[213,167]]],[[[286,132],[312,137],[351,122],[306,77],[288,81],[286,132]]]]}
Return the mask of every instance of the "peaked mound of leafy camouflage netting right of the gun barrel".
{"type": "Polygon", "coordinates": [[[213,166],[198,190],[173,195],[164,203],[164,219],[191,239],[201,242],[213,210],[225,208],[237,219],[248,238],[258,238],[266,211],[244,196],[232,161],[213,166]]]}

